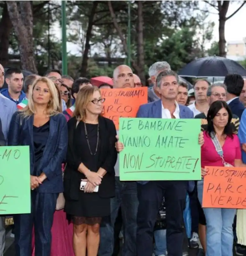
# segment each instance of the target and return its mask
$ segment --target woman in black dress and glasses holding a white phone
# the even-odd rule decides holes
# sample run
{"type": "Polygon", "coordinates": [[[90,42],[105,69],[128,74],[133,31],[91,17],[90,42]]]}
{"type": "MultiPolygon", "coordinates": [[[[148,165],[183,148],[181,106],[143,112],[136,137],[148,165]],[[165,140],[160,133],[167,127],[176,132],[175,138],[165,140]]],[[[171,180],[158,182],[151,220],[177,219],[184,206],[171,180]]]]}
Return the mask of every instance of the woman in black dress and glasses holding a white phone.
{"type": "Polygon", "coordinates": [[[97,87],[83,87],[67,123],[64,211],[74,224],[75,256],[97,256],[100,222],[110,215],[115,196],[116,130],[113,121],[100,116],[104,100],[97,87]]]}

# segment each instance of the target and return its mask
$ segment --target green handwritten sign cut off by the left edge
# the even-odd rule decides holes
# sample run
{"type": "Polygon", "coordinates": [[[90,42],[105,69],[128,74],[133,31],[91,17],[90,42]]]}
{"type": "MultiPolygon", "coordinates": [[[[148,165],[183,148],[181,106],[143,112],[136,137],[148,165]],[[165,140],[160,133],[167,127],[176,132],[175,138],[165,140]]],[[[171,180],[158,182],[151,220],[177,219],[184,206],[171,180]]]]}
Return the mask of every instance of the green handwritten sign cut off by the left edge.
{"type": "Polygon", "coordinates": [[[0,147],[0,214],[30,213],[28,146],[0,147]]]}

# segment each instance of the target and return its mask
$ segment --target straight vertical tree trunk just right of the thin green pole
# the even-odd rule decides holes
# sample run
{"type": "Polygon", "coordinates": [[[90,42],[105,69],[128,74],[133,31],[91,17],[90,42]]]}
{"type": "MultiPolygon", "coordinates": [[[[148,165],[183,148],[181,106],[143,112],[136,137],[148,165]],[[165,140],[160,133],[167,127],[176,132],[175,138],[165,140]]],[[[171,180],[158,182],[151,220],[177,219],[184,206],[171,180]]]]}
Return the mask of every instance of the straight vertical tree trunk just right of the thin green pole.
{"type": "Polygon", "coordinates": [[[138,1],[138,66],[139,78],[143,84],[146,83],[144,74],[144,37],[143,37],[143,1],[138,1]]]}

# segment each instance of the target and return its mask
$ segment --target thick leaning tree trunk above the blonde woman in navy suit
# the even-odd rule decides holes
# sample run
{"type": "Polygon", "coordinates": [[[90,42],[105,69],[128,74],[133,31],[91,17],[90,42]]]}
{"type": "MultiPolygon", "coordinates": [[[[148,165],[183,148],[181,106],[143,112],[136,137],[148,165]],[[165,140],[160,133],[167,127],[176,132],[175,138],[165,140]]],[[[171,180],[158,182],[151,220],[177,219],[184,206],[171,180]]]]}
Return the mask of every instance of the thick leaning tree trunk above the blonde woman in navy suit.
{"type": "Polygon", "coordinates": [[[19,41],[21,67],[37,73],[33,49],[33,13],[31,1],[6,1],[9,17],[19,41]],[[19,2],[20,8],[17,6],[19,2]]]}

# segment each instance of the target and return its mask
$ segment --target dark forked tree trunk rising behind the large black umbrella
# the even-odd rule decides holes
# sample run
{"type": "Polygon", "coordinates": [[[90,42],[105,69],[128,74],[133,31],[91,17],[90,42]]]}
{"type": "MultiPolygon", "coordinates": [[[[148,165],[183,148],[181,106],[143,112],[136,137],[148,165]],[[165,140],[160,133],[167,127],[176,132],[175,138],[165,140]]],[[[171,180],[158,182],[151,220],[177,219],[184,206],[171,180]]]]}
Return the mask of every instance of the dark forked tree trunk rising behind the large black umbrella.
{"type": "Polygon", "coordinates": [[[230,1],[217,1],[219,11],[219,56],[226,57],[225,24],[230,1]]]}

